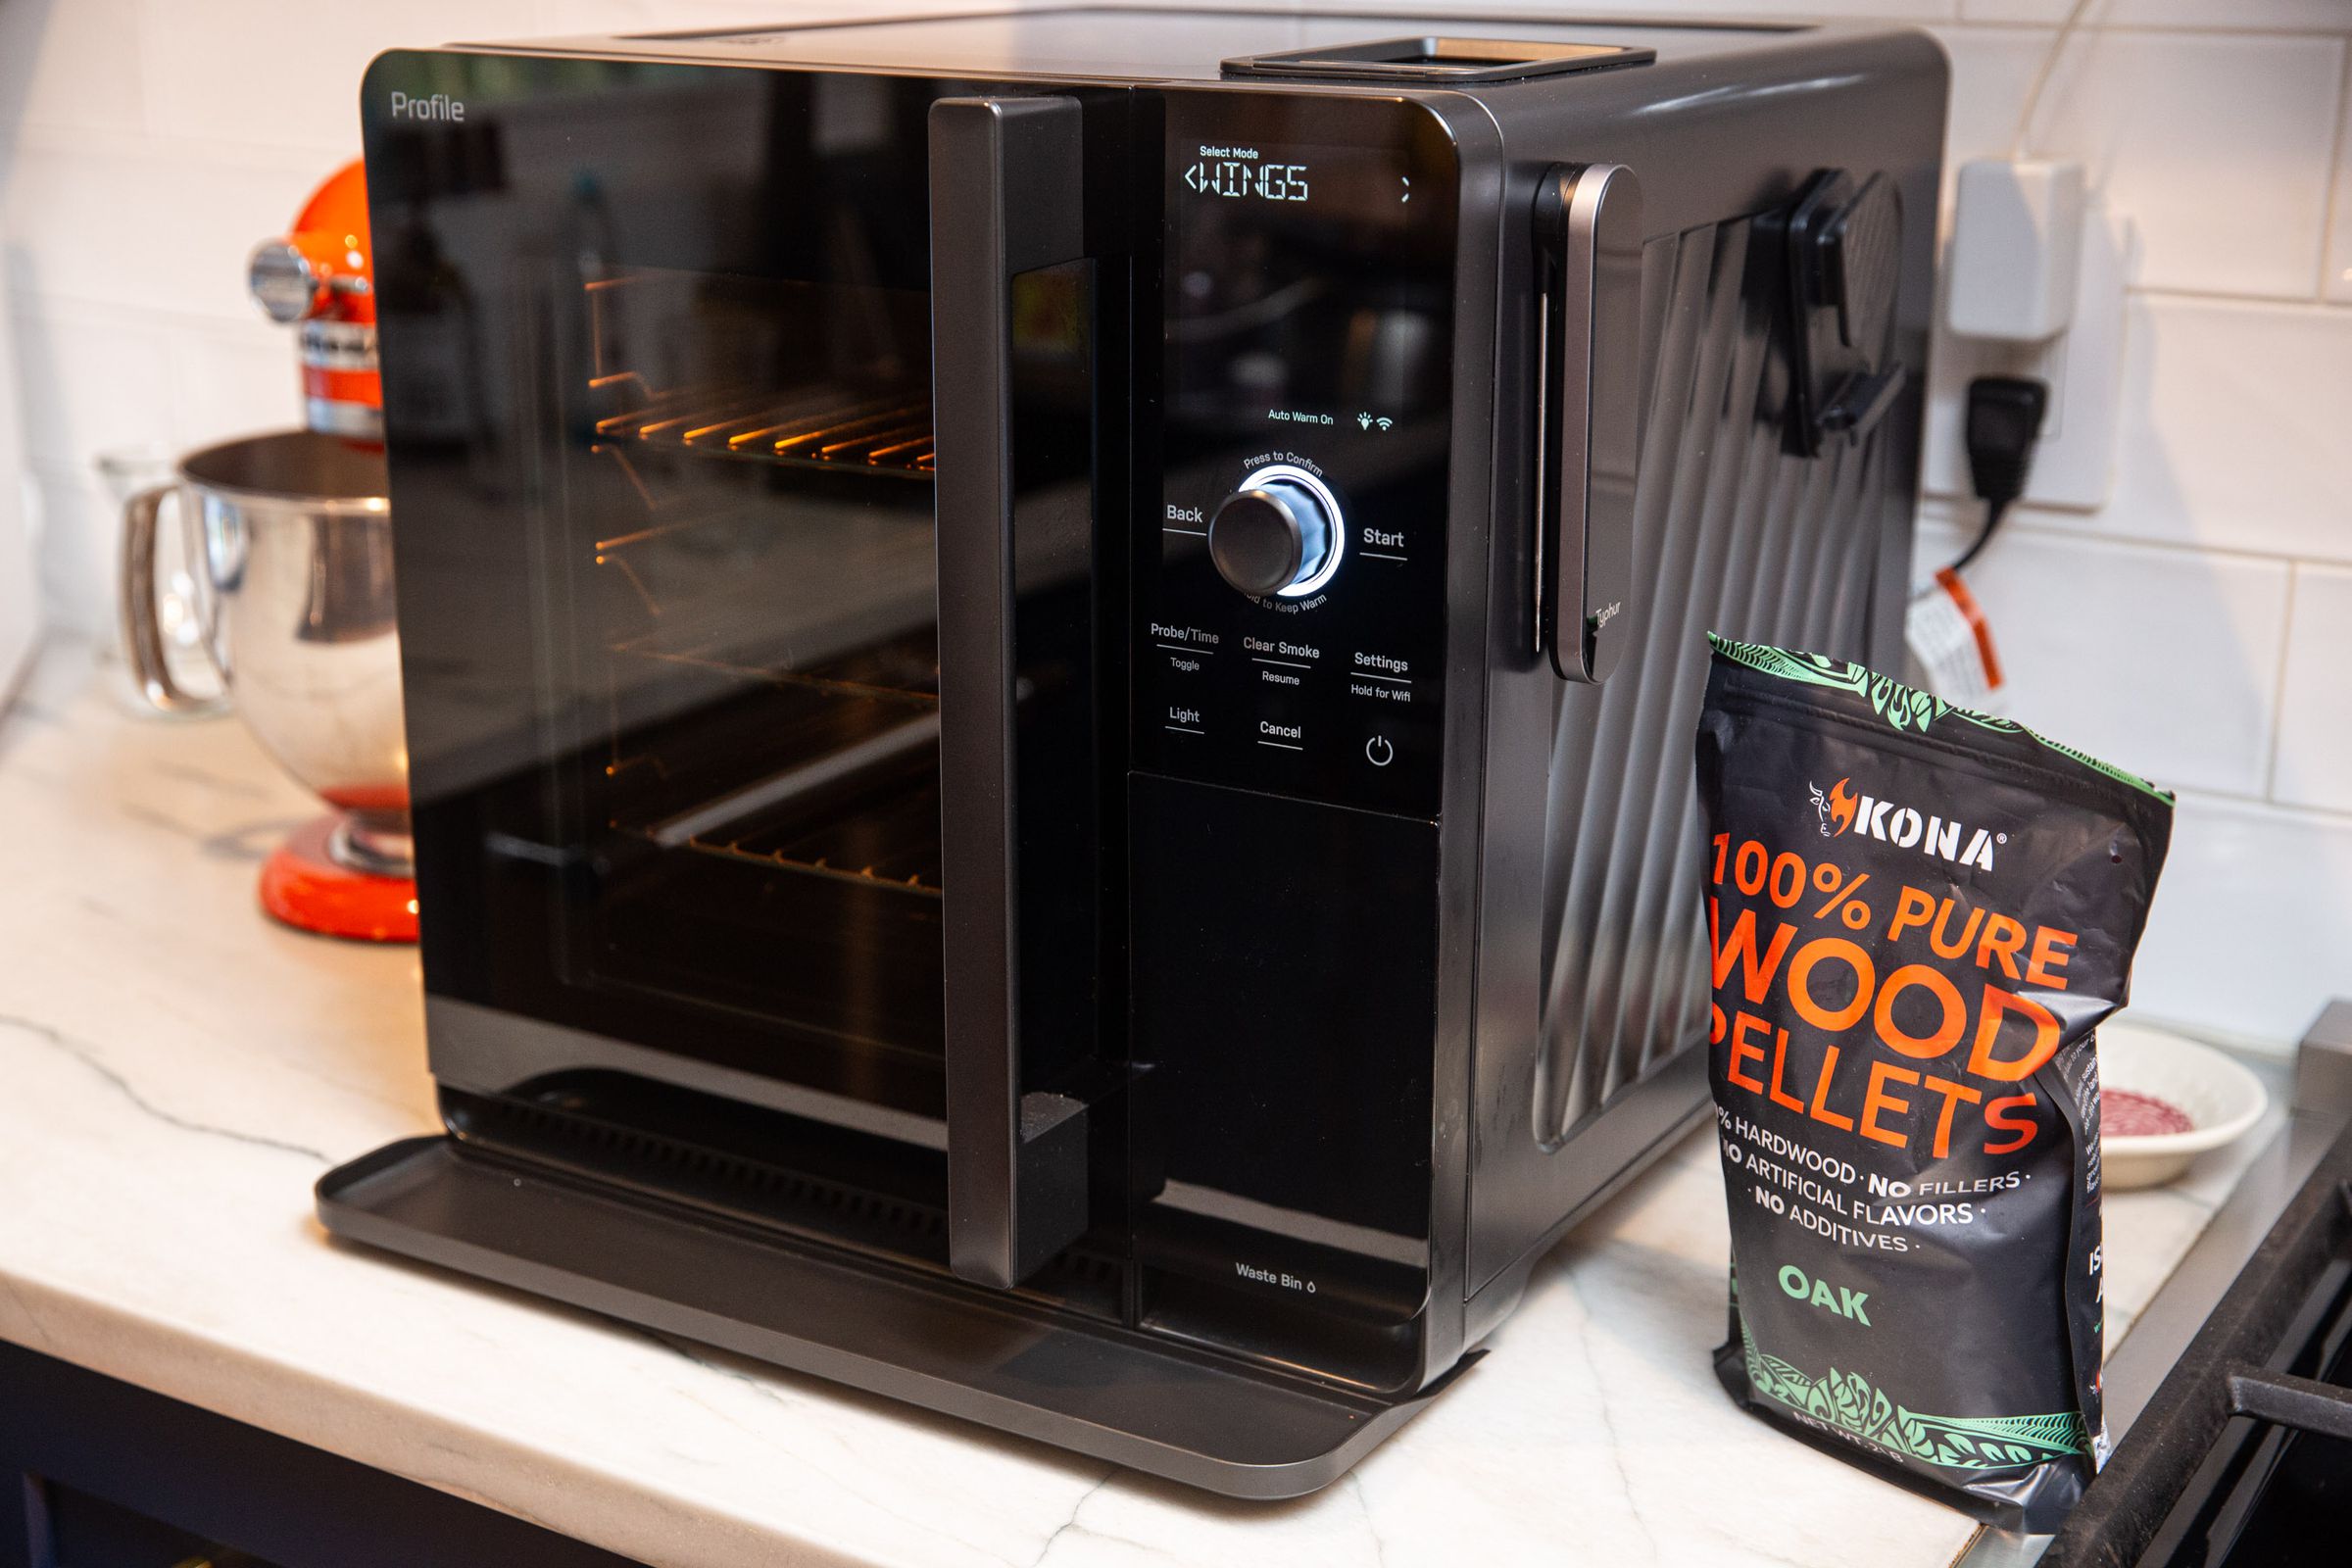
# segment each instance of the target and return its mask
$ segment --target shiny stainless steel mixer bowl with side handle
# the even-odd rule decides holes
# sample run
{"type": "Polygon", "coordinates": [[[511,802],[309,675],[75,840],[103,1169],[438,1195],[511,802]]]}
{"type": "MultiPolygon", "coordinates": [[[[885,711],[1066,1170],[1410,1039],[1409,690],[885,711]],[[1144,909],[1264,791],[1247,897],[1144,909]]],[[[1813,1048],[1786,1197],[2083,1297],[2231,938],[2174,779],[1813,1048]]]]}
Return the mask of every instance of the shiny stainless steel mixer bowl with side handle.
{"type": "Polygon", "coordinates": [[[191,454],[179,484],[132,496],[122,644],[139,689],[183,712],[155,621],[155,522],[179,491],[205,651],[228,703],[303,785],[341,809],[336,860],[409,875],[407,745],[393,630],[383,454],[313,430],[191,454]]]}

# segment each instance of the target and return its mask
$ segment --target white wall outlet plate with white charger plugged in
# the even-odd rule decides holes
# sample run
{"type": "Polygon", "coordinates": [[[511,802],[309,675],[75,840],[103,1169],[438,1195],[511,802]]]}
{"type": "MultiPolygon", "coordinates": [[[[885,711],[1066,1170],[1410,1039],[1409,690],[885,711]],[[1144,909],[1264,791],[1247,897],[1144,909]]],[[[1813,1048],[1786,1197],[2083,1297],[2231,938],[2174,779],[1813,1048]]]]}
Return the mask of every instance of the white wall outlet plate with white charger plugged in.
{"type": "Polygon", "coordinates": [[[2093,512],[2114,489],[2114,430],[2124,395],[2124,289],[2138,273],[2140,237],[2129,219],[2091,205],[2084,212],[2082,263],[2074,273],[2072,324],[2046,343],[1997,343],[1950,331],[1936,308],[1936,346],[1926,381],[1924,487],[1931,496],[1973,503],[1969,383],[1978,376],[2032,376],[2051,388],[2051,409],[2034,444],[2025,505],[2093,512]]]}

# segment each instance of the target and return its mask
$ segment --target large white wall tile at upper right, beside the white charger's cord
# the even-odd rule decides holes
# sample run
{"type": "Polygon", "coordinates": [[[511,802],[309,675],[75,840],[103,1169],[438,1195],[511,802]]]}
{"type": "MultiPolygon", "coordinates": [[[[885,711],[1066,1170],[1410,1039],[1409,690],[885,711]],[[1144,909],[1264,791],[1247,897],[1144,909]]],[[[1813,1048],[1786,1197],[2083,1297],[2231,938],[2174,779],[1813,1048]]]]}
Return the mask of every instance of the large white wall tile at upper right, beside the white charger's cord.
{"type": "Polygon", "coordinates": [[[2077,33],[2027,127],[2140,228],[2140,284],[2310,299],[2345,40],[2077,33]]]}

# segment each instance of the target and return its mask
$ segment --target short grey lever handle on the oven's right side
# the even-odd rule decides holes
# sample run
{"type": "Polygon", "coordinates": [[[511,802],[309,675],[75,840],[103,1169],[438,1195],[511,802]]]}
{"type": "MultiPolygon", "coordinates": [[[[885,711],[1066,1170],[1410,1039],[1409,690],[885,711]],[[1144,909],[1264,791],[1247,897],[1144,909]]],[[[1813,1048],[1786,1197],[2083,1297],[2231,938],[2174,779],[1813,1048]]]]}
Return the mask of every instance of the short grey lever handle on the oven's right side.
{"type": "Polygon", "coordinates": [[[1552,165],[1536,188],[1543,428],[1536,628],[1562,679],[1602,682],[1635,637],[1632,496],[1642,456],[1642,181],[1552,165]]]}

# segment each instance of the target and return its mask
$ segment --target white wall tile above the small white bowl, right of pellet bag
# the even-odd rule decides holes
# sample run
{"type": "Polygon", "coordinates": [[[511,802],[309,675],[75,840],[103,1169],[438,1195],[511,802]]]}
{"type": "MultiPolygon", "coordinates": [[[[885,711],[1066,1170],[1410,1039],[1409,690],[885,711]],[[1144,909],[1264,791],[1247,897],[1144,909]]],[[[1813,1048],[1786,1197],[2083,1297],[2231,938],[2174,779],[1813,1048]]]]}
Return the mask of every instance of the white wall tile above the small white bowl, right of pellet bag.
{"type": "Polygon", "coordinates": [[[2131,976],[2150,1018],[2293,1041],[2352,997],[2352,818],[2185,795],[2131,976]]]}

